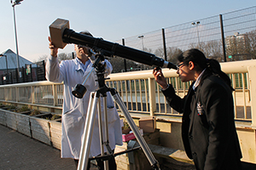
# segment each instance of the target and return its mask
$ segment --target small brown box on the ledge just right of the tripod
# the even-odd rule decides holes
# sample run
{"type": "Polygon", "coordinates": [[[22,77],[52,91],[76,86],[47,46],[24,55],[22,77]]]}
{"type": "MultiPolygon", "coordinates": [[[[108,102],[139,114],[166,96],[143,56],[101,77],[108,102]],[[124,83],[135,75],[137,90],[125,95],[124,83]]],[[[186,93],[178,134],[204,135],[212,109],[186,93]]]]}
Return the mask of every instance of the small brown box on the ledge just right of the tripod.
{"type": "Polygon", "coordinates": [[[139,127],[143,129],[144,133],[154,133],[156,125],[155,116],[144,116],[139,120],[139,127]]]}

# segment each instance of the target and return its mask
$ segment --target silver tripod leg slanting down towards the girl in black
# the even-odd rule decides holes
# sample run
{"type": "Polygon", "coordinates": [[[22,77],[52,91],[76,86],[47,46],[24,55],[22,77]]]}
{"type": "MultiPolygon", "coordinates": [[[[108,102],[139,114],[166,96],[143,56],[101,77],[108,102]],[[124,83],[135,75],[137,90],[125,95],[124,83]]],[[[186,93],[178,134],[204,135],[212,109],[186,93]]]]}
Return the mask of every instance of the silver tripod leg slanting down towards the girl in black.
{"type": "Polygon", "coordinates": [[[146,143],[145,139],[143,139],[141,133],[139,133],[135,122],[132,120],[131,115],[129,114],[129,111],[125,107],[125,104],[121,100],[119,94],[116,93],[115,89],[111,91],[111,94],[113,95],[113,99],[115,99],[115,101],[119,105],[121,111],[124,113],[125,119],[128,122],[129,126],[131,127],[131,130],[134,133],[138,144],[140,144],[140,146],[142,147],[145,156],[148,158],[150,165],[154,167],[154,169],[160,169],[158,161],[154,158],[153,153],[149,149],[148,144],[146,143]]]}

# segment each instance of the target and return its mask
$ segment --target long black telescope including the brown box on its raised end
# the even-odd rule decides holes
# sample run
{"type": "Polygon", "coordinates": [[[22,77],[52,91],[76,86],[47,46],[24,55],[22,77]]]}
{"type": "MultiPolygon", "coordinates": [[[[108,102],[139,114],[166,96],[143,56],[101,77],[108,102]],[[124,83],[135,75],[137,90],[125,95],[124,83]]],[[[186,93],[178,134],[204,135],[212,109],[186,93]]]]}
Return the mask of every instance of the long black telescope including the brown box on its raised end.
{"type": "Polygon", "coordinates": [[[55,20],[50,26],[50,37],[57,48],[64,48],[67,43],[83,45],[89,48],[102,49],[107,54],[117,55],[124,59],[130,59],[143,65],[163,67],[177,70],[176,65],[135,48],[125,47],[115,42],[108,42],[102,38],[90,37],[69,29],[69,21],[63,19],[55,20]]]}

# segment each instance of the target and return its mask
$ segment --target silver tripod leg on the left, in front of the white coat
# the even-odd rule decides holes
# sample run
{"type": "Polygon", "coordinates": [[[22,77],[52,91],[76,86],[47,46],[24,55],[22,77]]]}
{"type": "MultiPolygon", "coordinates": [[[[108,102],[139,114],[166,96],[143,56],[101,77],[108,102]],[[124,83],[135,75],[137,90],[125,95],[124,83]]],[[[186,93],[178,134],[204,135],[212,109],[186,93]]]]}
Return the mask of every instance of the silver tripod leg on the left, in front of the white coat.
{"type": "Polygon", "coordinates": [[[97,99],[96,93],[90,93],[89,110],[84,124],[84,138],[83,143],[81,144],[78,170],[85,170],[88,166],[91,137],[96,117],[97,99]]]}

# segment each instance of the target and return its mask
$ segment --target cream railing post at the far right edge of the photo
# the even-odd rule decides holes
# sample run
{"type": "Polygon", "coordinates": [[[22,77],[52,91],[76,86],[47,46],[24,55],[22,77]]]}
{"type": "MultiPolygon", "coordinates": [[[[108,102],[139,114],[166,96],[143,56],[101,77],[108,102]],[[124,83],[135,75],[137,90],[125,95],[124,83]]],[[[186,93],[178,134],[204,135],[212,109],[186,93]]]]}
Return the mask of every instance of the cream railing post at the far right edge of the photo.
{"type": "Polygon", "coordinates": [[[251,114],[252,114],[252,126],[256,127],[256,65],[248,66],[248,77],[250,84],[251,95],[251,114]],[[254,75],[254,76],[253,76],[254,75]]]}

